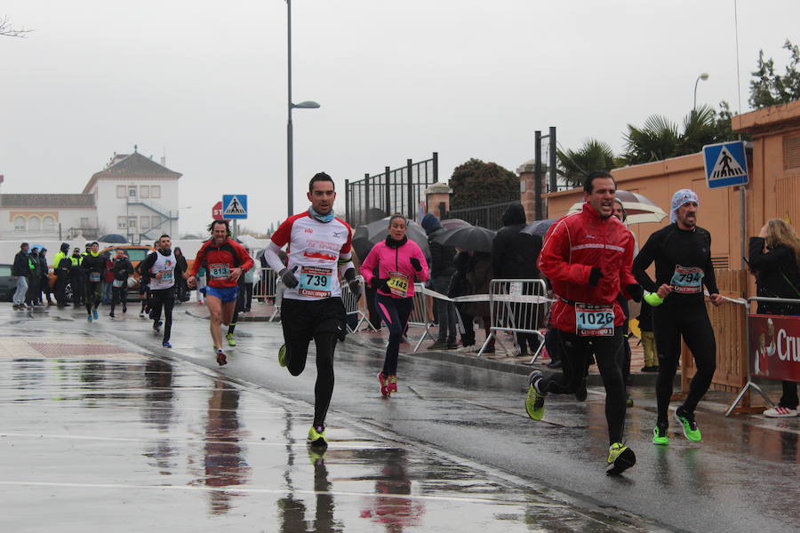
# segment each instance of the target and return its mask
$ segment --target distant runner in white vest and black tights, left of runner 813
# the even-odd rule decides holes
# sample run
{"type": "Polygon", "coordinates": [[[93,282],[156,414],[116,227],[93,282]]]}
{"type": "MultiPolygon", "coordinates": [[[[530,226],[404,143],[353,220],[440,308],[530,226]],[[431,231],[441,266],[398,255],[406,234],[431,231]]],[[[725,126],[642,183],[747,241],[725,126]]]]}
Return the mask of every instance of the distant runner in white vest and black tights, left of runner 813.
{"type": "Polygon", "coordinates": [[[172,332],[172,307],[175,306],[175,276],[186,270],[186,259],[180,261],[172,251],[172,239],[169,235],[161,235],[156,251],[149,254],[140,264],[140,272],[147,273],[150,279],[150,318],[153,319],[153,331],[161,330],[161,309],[164,308],[164,339],[161,346],[172,348],[170,334],[172,332]]]}

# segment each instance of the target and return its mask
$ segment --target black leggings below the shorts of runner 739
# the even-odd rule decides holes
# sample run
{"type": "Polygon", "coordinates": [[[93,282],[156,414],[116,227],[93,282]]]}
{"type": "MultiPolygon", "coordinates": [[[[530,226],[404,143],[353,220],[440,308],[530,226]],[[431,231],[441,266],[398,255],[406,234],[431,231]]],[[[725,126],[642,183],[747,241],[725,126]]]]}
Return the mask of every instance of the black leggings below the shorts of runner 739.
{"type": "MultiPolygon", "coordinates": [[[[314,386],[314,426],[324,426],[328,406],[333,395],[333,351],[337,333],[319,331],[314,334],[316,344],[316,386],[314,386]]],[[[299,376],[306,368],[308,344],[311,339],[299,338],[286,342],[286,367],[292,376],[299,376]]]]}

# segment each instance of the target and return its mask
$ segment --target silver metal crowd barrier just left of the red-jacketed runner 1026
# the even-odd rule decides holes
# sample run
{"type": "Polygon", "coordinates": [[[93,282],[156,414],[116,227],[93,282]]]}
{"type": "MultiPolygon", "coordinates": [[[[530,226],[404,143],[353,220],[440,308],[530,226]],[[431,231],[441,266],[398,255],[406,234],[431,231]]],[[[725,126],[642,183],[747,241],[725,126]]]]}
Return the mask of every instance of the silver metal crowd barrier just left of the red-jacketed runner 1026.
{"type": "Polygon", "coordinates": [[[513,331],[539,338],[539,347],[529,364],[535,362],[544,346],[544,335],[539,328],[548,314],[549,303],[548,288],[543,280],[492,280],[489,283],[490,334],[478,356],[484,354],[492,338],[502,346],[497,331],[513,331]]]}

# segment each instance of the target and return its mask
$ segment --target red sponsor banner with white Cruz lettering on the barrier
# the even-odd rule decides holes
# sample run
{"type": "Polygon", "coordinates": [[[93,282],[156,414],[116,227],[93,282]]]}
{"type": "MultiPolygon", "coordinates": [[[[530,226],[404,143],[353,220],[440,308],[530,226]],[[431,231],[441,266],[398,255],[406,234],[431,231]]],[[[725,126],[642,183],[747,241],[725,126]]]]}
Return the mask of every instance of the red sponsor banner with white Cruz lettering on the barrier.
{"type": "Polygon", "coordinates": [[[748,315],[750,375],[800,382],[800,316],[748,315]]]}

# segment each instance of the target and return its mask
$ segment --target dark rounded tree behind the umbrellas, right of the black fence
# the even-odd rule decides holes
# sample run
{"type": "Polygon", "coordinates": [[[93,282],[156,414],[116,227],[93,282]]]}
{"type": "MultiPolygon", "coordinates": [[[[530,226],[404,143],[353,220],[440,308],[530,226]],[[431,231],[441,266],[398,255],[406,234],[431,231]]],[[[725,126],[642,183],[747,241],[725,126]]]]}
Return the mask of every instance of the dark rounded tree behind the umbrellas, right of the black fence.
{"type": "Polygon", "coordinates": [[[470,159],[452,171],[452,209],[519,200],[519,177],[497,163],[470,159]]]}

